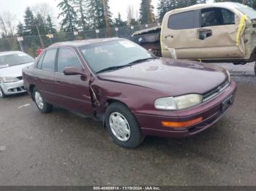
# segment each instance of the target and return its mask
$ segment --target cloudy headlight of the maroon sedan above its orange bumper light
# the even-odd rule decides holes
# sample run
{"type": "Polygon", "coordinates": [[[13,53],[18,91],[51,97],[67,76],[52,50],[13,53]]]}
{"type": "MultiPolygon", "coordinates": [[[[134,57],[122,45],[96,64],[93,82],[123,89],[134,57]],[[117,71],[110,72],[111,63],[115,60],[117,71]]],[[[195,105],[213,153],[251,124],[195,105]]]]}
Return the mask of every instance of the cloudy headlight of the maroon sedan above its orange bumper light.
{"type": "Polygon", "coordinates": [[[179,110],[187,109],[191,106],[201,104],[203,96],[199,94],[181,95],[178,97],[159,98],[155,101],[156,109],[162,110],[179,110]]]}

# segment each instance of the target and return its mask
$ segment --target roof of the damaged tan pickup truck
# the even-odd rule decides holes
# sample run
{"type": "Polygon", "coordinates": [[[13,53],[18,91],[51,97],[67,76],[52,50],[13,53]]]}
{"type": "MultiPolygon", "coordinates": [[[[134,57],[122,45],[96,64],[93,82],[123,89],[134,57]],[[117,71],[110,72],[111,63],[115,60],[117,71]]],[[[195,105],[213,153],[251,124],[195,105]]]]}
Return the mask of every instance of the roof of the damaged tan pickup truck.
{"type": "Polygon", "coordinates": [[[186,12],[190,10],[197,10],[197,9],[204,9],[204,8],[211,8],[211,7],[222,7],[222,8],[227,8],[227,9],[236,9],[237,5],[239,3],[235,2],[218,2],[218,3],[207,3],[207,4],[195,4],[189,7],[184,7],[181,9],[173,9],[168,13],[178,13],[178,12],[186,12]]]}

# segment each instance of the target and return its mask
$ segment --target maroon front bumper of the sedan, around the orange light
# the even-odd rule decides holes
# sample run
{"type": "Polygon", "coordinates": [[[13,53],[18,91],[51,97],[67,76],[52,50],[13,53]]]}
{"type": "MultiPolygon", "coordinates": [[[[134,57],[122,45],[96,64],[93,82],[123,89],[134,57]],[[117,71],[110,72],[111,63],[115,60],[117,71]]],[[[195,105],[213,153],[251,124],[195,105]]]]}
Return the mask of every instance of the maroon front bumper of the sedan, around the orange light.
{"type": "Polygon", "coordinates": [[[231,82],[230,85],[215,98],[206,101],[199,106],[191,109],[184,109],[178,112],[162,112],[162,115],[157,114],[135,114],[140,123],[142,132],[147,136],[165,136],[165,137],[186,137],[200,133],[203,130],[214,125],[233,105],[233,98],[236,93],[236,82],[231,82]],[[230,99],[231,98],[231,99],[230,99]],[[230,101],[231,100],[231,101],[230,101]],[[225,101],[230,101],[225,108],[225,101]],[[169,114],[169,116],[168,116],[169,114]],[[202,121],[195,125],[184,128],[170,128],[162,126],[163,121],[170,122],[186,122],[202,117],[202,121]]]}

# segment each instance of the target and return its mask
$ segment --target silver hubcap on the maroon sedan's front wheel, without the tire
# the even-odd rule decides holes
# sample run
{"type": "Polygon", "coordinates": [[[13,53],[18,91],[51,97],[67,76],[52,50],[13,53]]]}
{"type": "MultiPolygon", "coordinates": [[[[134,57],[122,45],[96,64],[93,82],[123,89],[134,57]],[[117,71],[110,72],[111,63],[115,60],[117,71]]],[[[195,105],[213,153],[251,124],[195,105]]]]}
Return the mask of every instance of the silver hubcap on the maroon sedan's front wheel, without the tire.
{"type": "Polygon", "coordinates": [[[118,112],[110,114],[110,128],[114,136],[119,141],[128,141],[131,136],[131,130],[129,128],[129,122],[127,119],[118,112]]]}

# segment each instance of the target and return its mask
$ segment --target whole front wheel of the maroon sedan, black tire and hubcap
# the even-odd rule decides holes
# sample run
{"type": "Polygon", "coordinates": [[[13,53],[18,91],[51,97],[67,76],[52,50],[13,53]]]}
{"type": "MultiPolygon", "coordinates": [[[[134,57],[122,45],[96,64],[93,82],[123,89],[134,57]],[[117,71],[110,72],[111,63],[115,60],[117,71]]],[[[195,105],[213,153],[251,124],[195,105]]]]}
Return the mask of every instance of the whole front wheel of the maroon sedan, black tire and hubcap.
{"type": "Polygon", "coordinates": [[[120,147],[133,149],[144,140],[145,136],[141,133],[140,125],[127,106],[121,103],[110,104],[105,117],[108,133],[120,147]]]}

